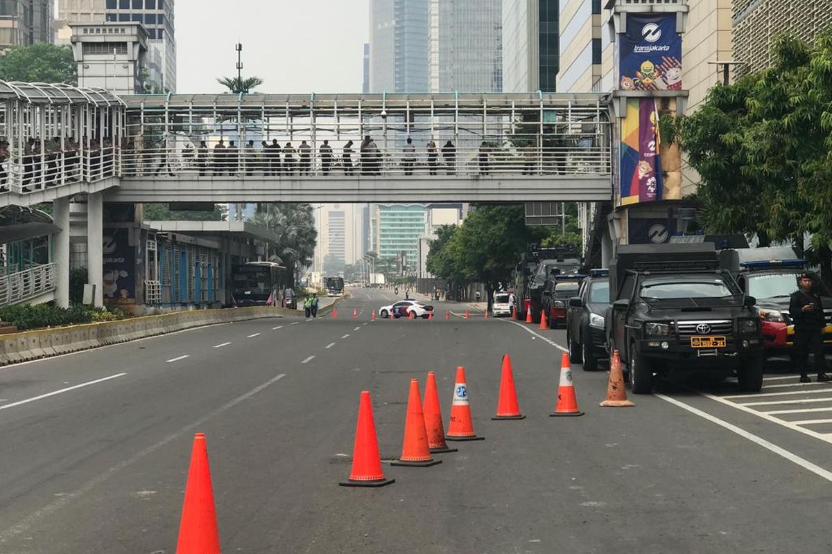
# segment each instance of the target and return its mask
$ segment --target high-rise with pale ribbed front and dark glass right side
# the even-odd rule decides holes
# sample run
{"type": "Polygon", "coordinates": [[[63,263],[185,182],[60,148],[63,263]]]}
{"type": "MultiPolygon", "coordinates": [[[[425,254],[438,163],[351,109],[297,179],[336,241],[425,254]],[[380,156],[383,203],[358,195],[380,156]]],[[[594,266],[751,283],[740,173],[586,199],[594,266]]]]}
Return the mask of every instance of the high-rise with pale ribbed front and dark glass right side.
{"type": "Polygon", "coordinates": [[[504,92],[556,91],[559,3],[503,0],[504,92]]]}

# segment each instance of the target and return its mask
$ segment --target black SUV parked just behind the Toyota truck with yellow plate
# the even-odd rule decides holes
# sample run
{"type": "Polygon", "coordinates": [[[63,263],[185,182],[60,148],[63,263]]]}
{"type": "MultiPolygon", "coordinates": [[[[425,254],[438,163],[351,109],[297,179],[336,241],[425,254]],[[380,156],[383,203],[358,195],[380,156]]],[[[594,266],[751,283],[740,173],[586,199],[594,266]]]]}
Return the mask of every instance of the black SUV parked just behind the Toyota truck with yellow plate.
{"type": "Polygon", "coordinates": [[[598,369],[598,360],[607,358],[604,316],[610,307],[610,281],[606,269],[593,269],[581,282],[577,297],[569,299],[567,346],[569,361],[583,363],[583,369],[598,369]]]}

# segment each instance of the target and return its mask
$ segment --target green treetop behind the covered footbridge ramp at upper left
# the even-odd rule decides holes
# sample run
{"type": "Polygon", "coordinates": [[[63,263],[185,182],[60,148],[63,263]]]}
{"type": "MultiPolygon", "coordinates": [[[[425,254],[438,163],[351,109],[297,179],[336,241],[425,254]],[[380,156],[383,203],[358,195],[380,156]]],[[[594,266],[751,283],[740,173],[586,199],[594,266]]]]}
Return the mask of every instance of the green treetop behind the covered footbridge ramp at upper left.
{"type": "Polygon", "coordinates": [[[10,47],[0,56],[0,80],[76,85],[77,63],[70,47],[46,42],[10,47]]]}

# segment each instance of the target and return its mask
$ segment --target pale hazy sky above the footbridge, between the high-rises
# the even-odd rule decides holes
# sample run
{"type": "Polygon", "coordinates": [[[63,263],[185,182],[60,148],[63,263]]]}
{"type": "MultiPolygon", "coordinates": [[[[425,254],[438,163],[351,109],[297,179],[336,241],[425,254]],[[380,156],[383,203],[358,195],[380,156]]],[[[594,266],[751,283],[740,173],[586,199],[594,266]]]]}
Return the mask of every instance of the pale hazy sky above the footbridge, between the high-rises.
{"type": "Polygon", "coordinates": [[[243,76],[275,93],[360,92],[369,0],[176,0],[176,91],[222,92],[243,76]]]}

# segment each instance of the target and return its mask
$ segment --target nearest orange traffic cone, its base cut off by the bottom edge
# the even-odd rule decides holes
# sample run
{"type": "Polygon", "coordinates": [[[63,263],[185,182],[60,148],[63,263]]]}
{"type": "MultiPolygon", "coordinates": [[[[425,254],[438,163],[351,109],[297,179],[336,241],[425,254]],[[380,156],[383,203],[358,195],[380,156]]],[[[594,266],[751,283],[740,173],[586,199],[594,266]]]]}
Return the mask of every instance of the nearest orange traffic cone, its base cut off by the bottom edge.
{"type": "Polygon", "coordinates": [[[214,491],[203,433],[194,435],[176,554],[220,554],[220,533],[216,528],[214,491]]]}

